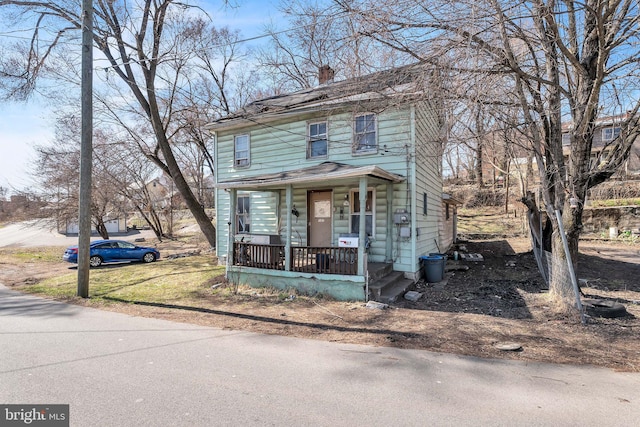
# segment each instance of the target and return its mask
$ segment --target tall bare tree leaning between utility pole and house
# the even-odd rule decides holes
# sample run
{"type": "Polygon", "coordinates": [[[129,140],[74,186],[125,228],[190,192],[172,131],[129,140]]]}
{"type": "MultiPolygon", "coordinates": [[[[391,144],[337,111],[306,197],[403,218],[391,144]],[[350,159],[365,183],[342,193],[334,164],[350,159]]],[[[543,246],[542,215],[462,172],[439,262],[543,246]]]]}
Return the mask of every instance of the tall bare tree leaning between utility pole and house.
{"type": "MultiPolygon", "coordinates": [[[[0,0],[0,7],[14,22],[30,22],[35,28],[30,43],[15,46],[14,55],[0,62],[5,96],[26,97],[39,77],[47,72],[59,74],[62,61],[73,61],[68,43],[77,39],[73,30],[81,28],[81,8],[73,0],[0,0]]],[[[148,129],[152,139],[140,146],[171,176],[207,241],[215,246],[215,227],[193,194],[171,145],[173,101],[185,83],[184,73],[192,69],[196,50],[202,47],[197,38],[202,21],[193,18],[197,11],[188,1],[96,0],[94,43],[108,64],[102,77],[113,91],[109,109],[118,110],[121,123],[138,120],[140,128],[148,129]]],[[[137,138],[142,140],[141,135],[137,138]]]]}

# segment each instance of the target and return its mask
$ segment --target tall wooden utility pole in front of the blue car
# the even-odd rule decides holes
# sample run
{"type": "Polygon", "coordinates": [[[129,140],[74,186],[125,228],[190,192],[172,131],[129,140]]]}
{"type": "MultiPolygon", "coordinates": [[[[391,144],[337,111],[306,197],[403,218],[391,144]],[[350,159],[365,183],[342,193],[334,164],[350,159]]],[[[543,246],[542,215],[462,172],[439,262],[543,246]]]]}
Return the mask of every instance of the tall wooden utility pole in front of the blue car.
{"type": "Polygon", "coordinates": [[[78,296],[89,297],[91,162],[93,158],[93,0],[82,0],[82,129],[78,207],[78,296]]]}

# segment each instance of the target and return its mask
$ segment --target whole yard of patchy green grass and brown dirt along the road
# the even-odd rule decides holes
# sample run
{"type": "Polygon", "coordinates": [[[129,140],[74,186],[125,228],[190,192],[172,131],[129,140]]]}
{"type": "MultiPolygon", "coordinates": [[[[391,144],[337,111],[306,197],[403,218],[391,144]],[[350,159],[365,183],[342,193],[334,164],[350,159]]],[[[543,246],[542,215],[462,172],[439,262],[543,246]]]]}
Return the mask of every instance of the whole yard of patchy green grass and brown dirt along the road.
{"type": "MultiPolygon", "coordinates": [[[[73,296],[76,271],[58,261],[61,248],[0,250],[0,282],[74,304],[218,328],[640,372],[640,306],[633,303],[640,301],[636,255],[620,263],[589,253],[586,262],[592,269],[585,274],[597,275],[598,280],[584,291],[628,301],[633,316],[591,318],[583,325],[574,313],[554,310],[538,282],[532,256],[526,253],[526,239],[504,242],[493,247],[478,242],[477,248],[488,248],[485,263],[450,275],[442,289],[419,288],[424,296],[417,303],[401,300],[386,310],[294,291],[236,288],[224,281],[214,255],[204,252],[151,265],[92,270],[92,298],[84,300],[73,296]],[[496,249],[503,247],[515,253],[509,255],[515,268],[505,268],[504,255],[496,249]],[[523,351],[496,349],[495,344],[503,341],[516,341],[523,351]]],[[[165,257],[194,251],[198,242],[186,239],[162,245],[165,257]]],[[[628,252],[629,247],[615,249],[628,252]]],[[[615,252],[615,258],[622,253],[615,252]]]]}

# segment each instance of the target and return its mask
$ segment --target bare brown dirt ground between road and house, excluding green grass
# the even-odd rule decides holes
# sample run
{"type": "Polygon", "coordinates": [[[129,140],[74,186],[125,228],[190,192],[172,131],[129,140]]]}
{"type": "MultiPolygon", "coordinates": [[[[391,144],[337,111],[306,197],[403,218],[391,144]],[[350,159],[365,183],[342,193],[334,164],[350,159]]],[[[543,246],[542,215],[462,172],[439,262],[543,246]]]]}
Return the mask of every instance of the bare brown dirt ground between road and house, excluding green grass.
{"type": "MultiPolygon", "coordinates": [[[[387,309],[249,288],[223,297],[211,289],[223,278],[203,289],[197,307],[175,301],[103,308],[267,334],[640,372],[637,246],[581,243],[578,276],[586,281],[585,296],[622,302],[629,313],[614,319],[588,317],[585,325],[577,315],[554,311],[527,239],[469,241],[465,246],[484,261],[448,261],[451,271],[445,282],[418,283],[422,296],[417,302],[400,298],[387,309]],[[497,348],[501,343],[517,343],[522,349],[503,351],[497,348]]],[[[3,265],[0,282],[19,287],[63,271],[68,273],[68,265],[62,263],[59,271],[39,269],[38,264],[28,269],[3,265]]],[[[95,306],[79,299],[70,302],[95,306]]]]}

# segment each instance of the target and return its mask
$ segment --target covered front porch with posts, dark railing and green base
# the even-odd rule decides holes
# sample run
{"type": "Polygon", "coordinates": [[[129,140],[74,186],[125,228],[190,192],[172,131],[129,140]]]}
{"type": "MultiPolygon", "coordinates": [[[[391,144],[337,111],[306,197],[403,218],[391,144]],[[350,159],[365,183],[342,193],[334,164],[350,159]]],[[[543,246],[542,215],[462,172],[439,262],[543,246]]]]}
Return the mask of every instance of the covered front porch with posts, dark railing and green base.
{"type": "MultiPolygon", "coordinates": [[[[403,177],[375,166],[355,167],[327,162],[296,171],[220,183],[219,186],[229,194],[227,278],[232,283],[256,287],[326,293],[341,300],[367,299],[368,283],[375,274],[372,271],[379,270],[380,266],[392,267],[393,186],[403,180],[403,177]],[[269,203],[260,205],[260,215],[269,213],[277,218],[273,231],[263,229],[260,230],[263,233],[247,233],[239,230],[243,224],[237,219],[238,194],[246,191],[275,194],[269,198],[269,203]],[[330,193],[331,203],[313,205],[309,200],[315,191],[330,193]],[[349,195],[357,196],[357,199],[350,200],[349,195]],[[303,197],[304,205],[301,203],[303,197]],[[360,217],[365,220],[360,221],[360,217],[354,219],[353,212],[349,211],[353,205],[372,206],[372,200],[367,197],[377,197],[377,209],[384,214],[378,215],[378,222],[384,226],[378,226],[377,236],[371,235],[372,220],[366,218],[364,212],[360,217]],[[338,203],[340,200],[344,202],[338,203]],[[321,221],[328,222],[325,233],[329,244],[317,244],[312,236],[310,224],[314,211],[321,209],[324,215],[321,221]],[[305,227],[303,231],[300,230],[301,222],[305,227]],[[361,239],[359,236],[366,237],[361,239]],[[370,247],[371,240],[374,244],[370,247]],[[372,257],[374,262],[370,262],[372,257]]],[[[252,221],[251,228],[256,230],[258,227],[254,223],[259,221],[252,221]]]]}

